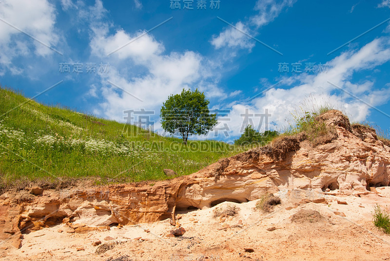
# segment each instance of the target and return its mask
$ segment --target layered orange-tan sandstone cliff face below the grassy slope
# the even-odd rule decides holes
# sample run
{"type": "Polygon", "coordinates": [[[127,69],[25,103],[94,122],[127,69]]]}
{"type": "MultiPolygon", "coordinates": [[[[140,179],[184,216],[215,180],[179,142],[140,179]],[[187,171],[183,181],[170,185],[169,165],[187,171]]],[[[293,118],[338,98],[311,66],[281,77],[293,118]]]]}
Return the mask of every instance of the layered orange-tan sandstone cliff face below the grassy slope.
{"type": "Polygon", "coordinates": [[[44,190],[39,195],[28,193],[28,200],[17,200],[21,191],[8,191],[0,199],[0,240],[12,235],[10,244],[18,246],[21,233],[61,222],[70,232],[85,232],[109,229],[110,225],[175,220],[175,211],[208,208],[225,201],[243,203],[279,191],[359,195],[370,193],[372,186],[390,185],[389,144],[378,140],[375,130],[351,126],[346,116],[334,110],[318,120],[334,130],[332,138],[326,137],[320,144],[310,143],[305,133],[279,137],[270,146],[153,186],[144,182],[44,190]]]}

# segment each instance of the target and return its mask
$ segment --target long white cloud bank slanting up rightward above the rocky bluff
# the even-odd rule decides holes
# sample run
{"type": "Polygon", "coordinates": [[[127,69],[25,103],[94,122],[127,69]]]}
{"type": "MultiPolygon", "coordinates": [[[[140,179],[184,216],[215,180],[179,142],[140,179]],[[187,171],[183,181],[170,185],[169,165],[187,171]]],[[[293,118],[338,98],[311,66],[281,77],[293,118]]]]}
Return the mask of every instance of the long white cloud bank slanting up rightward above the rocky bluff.
{"type": "MultiPolygon", "coordinates": [[[[283,130],[287,126],[292,120],[291,113],[294,111],[299,112],[302,107],[311,109],[326,104],[331,104],[335,109],[347,113],[351,121],[365,120],[372,110],[369,105],[380,106],[389,100],[390,86],[374,89],[375,83],[372,81],[355,83],[351,82],[351,78],[355,73],[371,70],[389,60],[390,41],[389,38],[382,37],[371,41],[358,51],[346,52],[335,57],[328,63],[327,72],[284,78],[281,84],[290,85],[290,89],[275,87],[249,103],[241,102],[232,106],[229,115],[230,133],[232,136],[239,134],[244,119],[240,114],[244,113],[246,108],[252,113],[264,113],[268,109],[272,114],[269,123],[276,122],[278,130],[283,130]],[[334,87],[328,81],[346,92],[334,87]],[[359,99],[351,97],[348,93],[352,93],[359,99]]],[[[258,126],[259,119],[257,117],[254,121],[255,128],[265,130],[265,121],[258,126]]]]}

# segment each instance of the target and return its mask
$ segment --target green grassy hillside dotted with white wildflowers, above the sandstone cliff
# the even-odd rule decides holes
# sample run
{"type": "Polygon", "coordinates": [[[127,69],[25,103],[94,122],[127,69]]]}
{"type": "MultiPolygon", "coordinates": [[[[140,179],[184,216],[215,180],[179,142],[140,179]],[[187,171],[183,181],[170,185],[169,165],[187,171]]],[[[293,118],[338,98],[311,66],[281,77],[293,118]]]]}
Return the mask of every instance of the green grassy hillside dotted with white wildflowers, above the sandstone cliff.
{"type": "Polygon", "coordinates": [[[2,188],[59,179],[88,178],[96,184],[162,180],[168,179],[164,168],[187,175],[241,151],[214,140],[184,146],[176,137],[46,106],[0,87],[2,188]]]}

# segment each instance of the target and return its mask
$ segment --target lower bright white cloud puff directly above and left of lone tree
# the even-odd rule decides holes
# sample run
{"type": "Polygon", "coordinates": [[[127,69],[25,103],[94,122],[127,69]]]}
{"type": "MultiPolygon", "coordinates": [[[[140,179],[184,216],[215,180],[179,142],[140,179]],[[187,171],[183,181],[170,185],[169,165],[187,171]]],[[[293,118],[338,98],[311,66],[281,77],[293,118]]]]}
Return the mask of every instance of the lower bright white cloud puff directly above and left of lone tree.
{"type": "MultiPolygon", "coordinates": [[[[141,108],[155,110],[158,115],[162,103],[170,94],[192,87],[199,79],[200,62],[199,55],[188,51],[155,56],[155,60],[147,65],[148,73],[143,76],[131,77],[130,73],[123,75],[111,67],[109,74],[100,74],[105,100],[100,106],[104,115],[122,120],[123,110],[141,108]]],[[[116,64],[115,60],[111,60],[111,63],[116,64]]]]}

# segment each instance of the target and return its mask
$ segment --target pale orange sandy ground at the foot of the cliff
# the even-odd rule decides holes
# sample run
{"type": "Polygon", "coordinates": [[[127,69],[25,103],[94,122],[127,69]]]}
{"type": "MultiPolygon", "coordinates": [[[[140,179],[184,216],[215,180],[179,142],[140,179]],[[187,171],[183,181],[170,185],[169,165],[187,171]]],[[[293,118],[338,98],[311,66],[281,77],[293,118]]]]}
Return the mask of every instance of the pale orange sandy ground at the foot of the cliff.
{"type": "Polygon", "coordinates": [[[24,234],[21,248],[1,250],[0,260],[390,260],[390,236],[372,224],[371,214],[375,204],[390,206],[390,187],[376,188],[361,197],[331,196],[327,200],[327,204],[297,205],[282,197],[282,204],[271,213],[254,210],[255,201],[217,205],[240,209],[228,218],[214,218],[215,207],[181,212],[178,222],[186,229],[181,237],[167,237],[175,229],[169,220],[85,234],[67,233],[67,227],[59,224],[24,234]],[[292,222],[292,215],[301,209],[317,210],[322,218],[292,222]],[[118,243],[96,254],[98,246],[92,243],[98,240],[118,243]]]}

